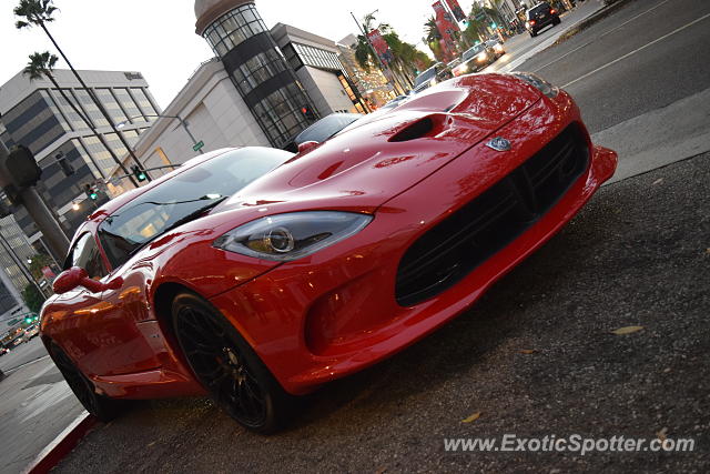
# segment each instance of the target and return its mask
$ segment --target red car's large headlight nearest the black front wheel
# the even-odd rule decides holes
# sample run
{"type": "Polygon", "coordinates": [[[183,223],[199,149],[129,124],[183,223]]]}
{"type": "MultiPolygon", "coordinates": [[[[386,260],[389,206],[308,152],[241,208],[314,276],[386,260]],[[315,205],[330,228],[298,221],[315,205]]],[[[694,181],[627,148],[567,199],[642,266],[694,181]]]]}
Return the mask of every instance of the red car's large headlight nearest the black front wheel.
{"type": "Polygon", "coordinates": [[[288,262],[356,234],[372,220],[372,215],[337,211],[268,215],[232,229],[213,245],[256,259],[288,262]]]}

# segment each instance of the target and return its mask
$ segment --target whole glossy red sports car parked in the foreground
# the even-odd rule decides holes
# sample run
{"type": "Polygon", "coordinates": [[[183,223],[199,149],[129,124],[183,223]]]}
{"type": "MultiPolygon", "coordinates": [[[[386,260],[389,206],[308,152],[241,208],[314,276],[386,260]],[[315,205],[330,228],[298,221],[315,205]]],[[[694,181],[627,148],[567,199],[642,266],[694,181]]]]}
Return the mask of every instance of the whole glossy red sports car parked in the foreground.
{"type": "Polygon", "coordinates": [[[100,418],[207,393],[268,432],[469,307],[616,164],[524,73],[452,79],[296,155],[215,151],[89,216],[42,340],[100,418]]]}

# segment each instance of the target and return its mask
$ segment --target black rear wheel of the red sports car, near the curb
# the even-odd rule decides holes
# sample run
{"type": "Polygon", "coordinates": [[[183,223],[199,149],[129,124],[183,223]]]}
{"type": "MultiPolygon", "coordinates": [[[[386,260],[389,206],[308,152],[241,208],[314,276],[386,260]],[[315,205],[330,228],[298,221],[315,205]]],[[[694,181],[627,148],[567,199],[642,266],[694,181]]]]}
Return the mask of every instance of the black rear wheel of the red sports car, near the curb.
{"type": "Polygon", "coordinates": [[[121,413],[122,403],[98,394],[93,383],[77,367],[59,345],[52,343],[50,347],[50,355],[54,364],[83,407],[101,422],[106,423],[115,418],[121,413]]]}

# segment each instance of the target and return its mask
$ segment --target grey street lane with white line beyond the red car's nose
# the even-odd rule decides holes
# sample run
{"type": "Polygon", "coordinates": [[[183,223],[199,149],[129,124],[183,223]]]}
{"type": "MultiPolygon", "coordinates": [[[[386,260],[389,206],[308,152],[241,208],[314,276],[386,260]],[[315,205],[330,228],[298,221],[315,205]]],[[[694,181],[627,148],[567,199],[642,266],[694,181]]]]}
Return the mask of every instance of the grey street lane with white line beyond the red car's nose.
{"type": "Polygon", "coordinates": [[[710,87],[710,2],[637,0],[517,69],[564,87],[599,132],[710,87]]]}

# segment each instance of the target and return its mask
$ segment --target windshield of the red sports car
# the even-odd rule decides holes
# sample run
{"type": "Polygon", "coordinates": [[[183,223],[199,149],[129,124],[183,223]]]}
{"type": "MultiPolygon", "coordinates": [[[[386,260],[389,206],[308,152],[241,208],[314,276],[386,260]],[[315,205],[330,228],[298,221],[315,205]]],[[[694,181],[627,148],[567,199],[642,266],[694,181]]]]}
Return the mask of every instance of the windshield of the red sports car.
{"type": "Polygon", "coordinates": [[[113,268],[170,229],[210,208],[293,157],[283,150],[233,150],[183,171],[144,192],[99,225],[99,240],[113,268]]]}

